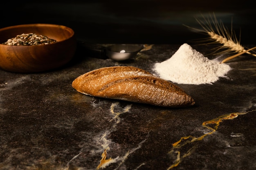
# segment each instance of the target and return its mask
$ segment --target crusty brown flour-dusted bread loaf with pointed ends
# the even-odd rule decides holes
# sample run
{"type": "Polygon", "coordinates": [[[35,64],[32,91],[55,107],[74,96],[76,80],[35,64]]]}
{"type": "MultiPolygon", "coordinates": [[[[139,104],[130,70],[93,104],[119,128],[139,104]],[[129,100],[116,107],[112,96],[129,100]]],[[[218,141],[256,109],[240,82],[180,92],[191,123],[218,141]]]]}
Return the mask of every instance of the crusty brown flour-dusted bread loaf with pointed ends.
{"type": "Polygon", "coordinates": [[[179,86],[132,66],[110,66],[90,71],[74,79],[72,87],[85,95],[155,106],[195,104],[179,86]]]}

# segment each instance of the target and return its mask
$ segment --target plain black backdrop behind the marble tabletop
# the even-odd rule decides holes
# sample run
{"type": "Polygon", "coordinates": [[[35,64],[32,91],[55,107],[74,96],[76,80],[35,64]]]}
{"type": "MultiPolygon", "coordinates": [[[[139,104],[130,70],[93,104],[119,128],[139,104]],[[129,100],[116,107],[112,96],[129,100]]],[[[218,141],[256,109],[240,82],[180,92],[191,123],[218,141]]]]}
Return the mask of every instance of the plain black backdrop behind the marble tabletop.
{"type": "Polygon", "coordinates": [[[18,1],[1,4],[0,28],[48,23],[72,28],[89,43],[181,44],[201,33],[196,18],[215,14],[234,29],[242,44],[255,44],[256,7],[241,0],[87,0],[18,1]]]}

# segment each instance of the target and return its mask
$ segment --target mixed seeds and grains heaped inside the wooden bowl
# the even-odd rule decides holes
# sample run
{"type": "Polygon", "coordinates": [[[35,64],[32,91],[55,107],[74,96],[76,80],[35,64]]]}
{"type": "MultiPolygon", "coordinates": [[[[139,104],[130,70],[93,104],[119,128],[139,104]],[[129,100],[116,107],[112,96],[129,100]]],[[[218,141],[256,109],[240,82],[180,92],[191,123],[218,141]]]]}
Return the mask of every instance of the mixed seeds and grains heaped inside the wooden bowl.
{"type": "Polygon", "coordinates": [[[13,46],[29,46],[29,45],[43,45],[43,44],[51,44],[56,42],[51,38],[48,38],[44,35],[39,35],[35,33],[22,33],[17,35],[14,38],[7,40],[2,44],[4,45],[13,45],[13,46]]]}

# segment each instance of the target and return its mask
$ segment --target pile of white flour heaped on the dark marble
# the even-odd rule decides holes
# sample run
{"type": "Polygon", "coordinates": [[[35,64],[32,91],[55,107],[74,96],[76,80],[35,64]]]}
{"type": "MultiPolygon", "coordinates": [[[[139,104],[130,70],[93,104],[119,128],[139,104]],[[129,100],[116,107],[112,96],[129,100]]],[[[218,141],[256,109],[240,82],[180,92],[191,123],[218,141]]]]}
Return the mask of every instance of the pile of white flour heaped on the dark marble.
{"type": "Polygon", "coordinates": [[[153,70],[159,77],[178,84],[212,84],[219,77],[226,77],[231,68],[217,60],[209,60],[185,43],[171,58],[156,63],[153,70]]]}

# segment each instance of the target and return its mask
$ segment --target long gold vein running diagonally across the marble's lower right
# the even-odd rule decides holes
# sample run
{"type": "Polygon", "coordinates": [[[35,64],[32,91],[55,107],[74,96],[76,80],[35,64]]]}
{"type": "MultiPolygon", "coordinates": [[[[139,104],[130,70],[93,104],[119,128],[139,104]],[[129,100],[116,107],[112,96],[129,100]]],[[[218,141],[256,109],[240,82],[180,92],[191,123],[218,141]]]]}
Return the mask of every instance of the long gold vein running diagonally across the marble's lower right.
{"type": "Polygon", "coordinates": [[[217,117],[215,119],[209,120],[209,121],[204,121],[202,123],[202,126],[204,128],[207,128],[207,129],[211,130],[211,131],[206,133],[206,134],[204,134],[204,135],[202,135],[202,136],[200,136],[200,137],[193,137],[191,135],[186,136],[186,137],[181,137],[180,140],[175,142],[173,144],[173,149],[171,151],[169,151],[168,153],[169,154],[176,154],[176,160],[174,161],[174,163],[170,167],[167,168],[167,170],[170,170],[170,169],[178,166],[183,158],[191,155],[191,153],[195,150],[195,147],[194,146],[191,147],[186,153],[184,153],[184,155],[182,157],[181,157],[181,152],[179,150],[177,150],[177,149],[182,148],[186,144],[193,143],[194,141],[202,140],[207,135],[213,134],[214,132],[216,132],[216,130],[220,126],[220,123],[223,120],[234,119],[234,118],[238,117],[238,115],[245,115],[245,114],[247,114],[249,112],[253,112],[253,111],[256,111],[256,110],[251,110],[251,111],[248,111],[248,112],[245,112],[245,113],[230,113],[230,114],[227,114],[227,115],[221,115],[221,116],[219,116],[219,117],[217,117]],[[213,128],[211,128],[210,127],[211,125],[215,125],[215,126],[213,128]]]}

